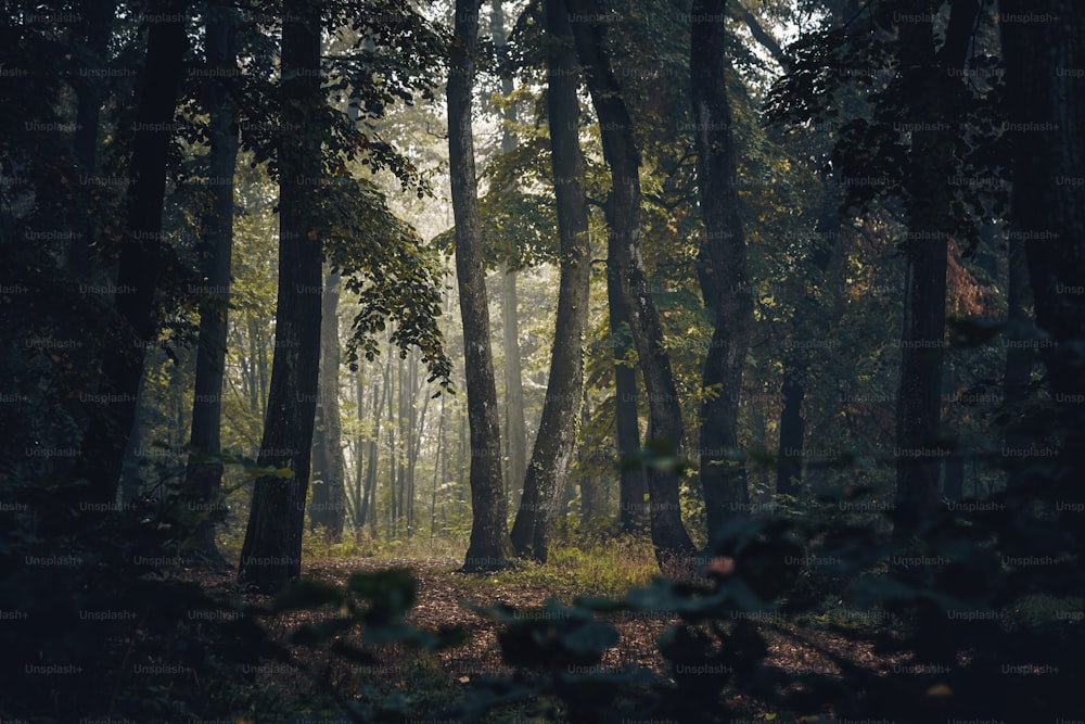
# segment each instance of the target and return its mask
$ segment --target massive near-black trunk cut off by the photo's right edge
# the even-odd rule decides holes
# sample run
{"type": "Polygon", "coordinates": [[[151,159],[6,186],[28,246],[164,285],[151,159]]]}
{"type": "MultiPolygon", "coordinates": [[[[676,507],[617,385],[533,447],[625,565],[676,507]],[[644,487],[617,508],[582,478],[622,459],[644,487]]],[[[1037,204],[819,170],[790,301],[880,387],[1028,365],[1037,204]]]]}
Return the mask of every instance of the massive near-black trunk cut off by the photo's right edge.
{"type": "MultiPolygon", "coordinates": [[[[1061,452],[1049,497],[1067,530],[1082,535],[1085,501],[1085,8],[1072,0],[1003,0],[1000,23],[1013,144],[1011,238],[1024,243],[1036,323],[1059,410],[1061,452]]],[[[1023,374],[1019,380],[1023,380],[1023,374]]]]}

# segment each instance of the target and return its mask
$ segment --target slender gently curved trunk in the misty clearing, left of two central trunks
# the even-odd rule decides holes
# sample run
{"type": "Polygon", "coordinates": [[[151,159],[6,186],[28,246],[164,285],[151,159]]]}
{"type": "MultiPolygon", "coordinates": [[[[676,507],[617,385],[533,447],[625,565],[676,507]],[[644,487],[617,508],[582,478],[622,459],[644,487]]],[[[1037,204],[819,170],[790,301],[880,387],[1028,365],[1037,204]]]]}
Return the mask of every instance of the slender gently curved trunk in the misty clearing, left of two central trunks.
{"type": "Polygon", "coordinates": [[[508,564],[508,500],[501,481],[501,429],[489,342],[486,272],[478,218],[471,96],[482,0],[456,0],[449,53],[448,165],[456,221],[456,275],[463,321],[468,420],[471,428],[471,542],[463,570],[508,564]]]}

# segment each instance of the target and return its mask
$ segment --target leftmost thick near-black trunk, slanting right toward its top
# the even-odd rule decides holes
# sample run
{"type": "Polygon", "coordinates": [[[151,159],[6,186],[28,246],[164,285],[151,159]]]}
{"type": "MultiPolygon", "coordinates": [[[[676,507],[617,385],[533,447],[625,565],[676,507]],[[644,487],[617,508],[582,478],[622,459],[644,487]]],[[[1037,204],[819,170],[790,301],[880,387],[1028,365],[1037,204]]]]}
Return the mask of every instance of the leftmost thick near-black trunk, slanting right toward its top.
{"type": "Polygon", "coordinates": [[[117,343],[102,360],[104,397],[89,410],[89,423],[77,465],[94,504],[117,498],[125,441],[136,416],[143,359],[158,330],[155,300],[162,266],[162,207],[174,112],[189,41],[184,3],[165,2],[150,23],[146,65],[140,81],[139,109],[129,165],[127,229],[120,244],[116,309],[124,323],[117,343]]]}

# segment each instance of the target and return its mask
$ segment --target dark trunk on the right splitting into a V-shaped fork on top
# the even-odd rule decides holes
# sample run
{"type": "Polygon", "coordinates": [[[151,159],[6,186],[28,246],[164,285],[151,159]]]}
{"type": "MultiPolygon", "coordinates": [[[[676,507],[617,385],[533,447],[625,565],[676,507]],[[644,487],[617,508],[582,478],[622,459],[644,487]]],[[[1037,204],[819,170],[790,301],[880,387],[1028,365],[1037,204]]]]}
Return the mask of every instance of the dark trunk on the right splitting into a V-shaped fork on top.
{"type": "Polygon", "coordinates": [[[944,446],[940,441],[942,358],[945,345],[946,266],[950,228],[949,177],[954,172],[962,86],[948,73],[963,69],[979,0],[955,0],[946,41],[935,53],[926,0],[902,3],[898,54],[903,91],[915,100],[906,120],[915,130],[908,177],[908,238],[904,243],[904,329],[896,409],[897,469],[894,535],[909,537],[921,517],[939,505],[944,446]],[[934,102],[932,99],[937,99],[934,102]],[[945,130],[943,129],[950,129],[945,130]]]}

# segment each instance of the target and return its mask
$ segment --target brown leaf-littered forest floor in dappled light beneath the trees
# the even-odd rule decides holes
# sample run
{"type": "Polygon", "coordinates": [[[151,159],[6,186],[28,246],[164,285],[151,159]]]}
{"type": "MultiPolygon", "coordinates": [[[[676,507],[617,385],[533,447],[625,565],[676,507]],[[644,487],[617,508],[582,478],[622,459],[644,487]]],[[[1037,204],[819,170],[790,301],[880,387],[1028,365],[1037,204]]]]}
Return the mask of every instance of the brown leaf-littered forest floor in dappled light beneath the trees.
{"type": "MultiPolygon", "coordinates": [[[[485,575],[459,573],[459,566],[460,561],[450,557],[322,557],[310,563],[304,571],[306,576],[337,586],[345,586],[350,574],[360,571],[409,569],[418,581],[418,598],[408,621],[426,630],[462,626],[470,631],[470,637],[462,645],[437,653],[386,647],[380,655],[380,663],[373,665],[350,664],[322,652],[295,648],[296,671],[276,676],[273,682],[269,679],[268,686],[279,693],[290,689],[303,698],[309,694],[328,695],[330,686],[347,693],[376,683],[385,695],[400,690],[416,699],[420,689],[434,688],[422,698],[427,699],[427,704],[443,708],[455,702],[476,677],[511,673],[511,669],[501,661],[497,640],[497,632],[502,624],[475,609],[498,605],[516,610],[533,609],[541,607],[550,598],[569,605],[583,595],[616,598],[621,595],[618,588],[624,589],[618,581],[586,581],[584,572],[576,566],[532,566],[485,575]]],[[[229,584],[226,574],[212,576],[216,580],[201,577],[205,584],[229,584]]],[[[246,595],[246,601],[251,604],[266,600],[246,595]]],[[[292,612],[280,614],[268,623],[272,636],[278,638],[311,618],[312,613],[292,612]]],[[[659,652],[658,639],[667,626],[676,622],[674,618],[628,612],[601,618],[620,635],[617,645],[604,655],[600,664],[602,669],[635,664],[658,673],[666,672],[667,664],[659,652]]],[[[841,631],[822,625],[800,626],[783,620],[774,620],[761,628],[768,643],[765,662],[796,675],[815,673],[838,676],[841,675],[838,662],[888,675],[891,666],[902,661],[901,657],[876,652],[872,637],[860,631],[841,631]]],[[[277,673],[284,672],[277,670],[277,673]]],[[[750,714],[768,714],[755,701],[742,701],[736,697],[729,703],[750,714]]]]}

